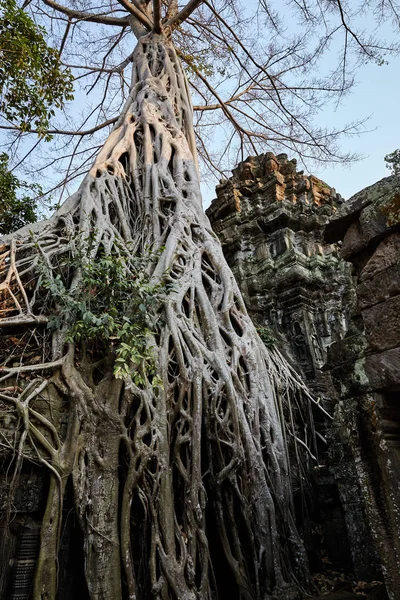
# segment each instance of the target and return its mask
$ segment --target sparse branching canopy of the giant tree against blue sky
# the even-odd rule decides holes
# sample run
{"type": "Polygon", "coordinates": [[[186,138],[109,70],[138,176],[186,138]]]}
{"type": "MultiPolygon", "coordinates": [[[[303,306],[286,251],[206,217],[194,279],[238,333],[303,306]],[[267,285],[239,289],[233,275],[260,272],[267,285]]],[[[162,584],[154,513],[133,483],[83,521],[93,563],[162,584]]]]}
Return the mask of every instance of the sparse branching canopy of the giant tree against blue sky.
{"type": "MultiPolygon", "coordinates": [[[[107,6],[36,0],[23,9],[3,0],[3,6],[27,34],[18,40],[18,61],[13,63],[13,54],[7,57],[11,103],[3,102],[0,127],[9,132],[13,159],[30,152],[24,168],[50,173],[50,188],[85,172],[118,118],[129,94],[132,23],[140,35],[157,21],[156,29],[172,36],[191,86],[203,167],[220,175],[247,154],[268,150],[289,151],[306,161],[351,160],[341,152],[340,138],[359,133],[363,121],[332,129],[316,117],[327,102],[340,101],[351,90],[360,62],[381,64],[398,51],[398,43],[379,35],[387,20],[399,28],[399,4],[386,0],[290,0],[284,6],[275,0],[250,5],[173,0],[160,2],[157,14],[144,0],[107,6]],[[48,32],[45,39],[38,26],[48,32]],[[26,40],[35,50],[29,62],[26,40]],[[71,95],[70,73],[76,100],[54,111],[71,95]],[[40,97],[42,86],[50,96],[40,97]],[[27,93],[33,101],[22,117],[27,93]],[[35,133],[55,139],[50,146],[38,143],[35,133]]],[[[16,43],[15,29],[2,31],[16,43]]]]}

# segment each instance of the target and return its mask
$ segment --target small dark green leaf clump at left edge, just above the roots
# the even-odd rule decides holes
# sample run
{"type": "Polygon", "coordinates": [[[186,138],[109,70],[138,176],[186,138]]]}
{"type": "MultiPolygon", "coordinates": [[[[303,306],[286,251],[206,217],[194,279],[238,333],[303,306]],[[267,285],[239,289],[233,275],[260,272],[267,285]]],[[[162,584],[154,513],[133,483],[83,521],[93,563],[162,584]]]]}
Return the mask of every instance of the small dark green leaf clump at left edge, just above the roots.
{"type": "Polygon", "coordinates": [[[7,234],[37,221],[36,198],[42,188],[25,183],[9,171],[8,155],[0,154],[0,234],[7,234]],[[22,192],[22,195],[21,195],[22,192]]]}

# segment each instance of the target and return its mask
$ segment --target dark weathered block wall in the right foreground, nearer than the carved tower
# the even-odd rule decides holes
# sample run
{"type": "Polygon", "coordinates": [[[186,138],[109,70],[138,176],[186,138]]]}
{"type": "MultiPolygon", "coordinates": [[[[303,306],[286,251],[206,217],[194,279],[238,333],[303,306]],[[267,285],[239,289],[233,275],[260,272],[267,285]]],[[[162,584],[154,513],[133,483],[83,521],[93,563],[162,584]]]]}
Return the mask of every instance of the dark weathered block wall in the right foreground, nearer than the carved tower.
{"type": "Polygon", "coordinates": [[[340,392],[336,418],[352,452],[391,598],[400,597],[400,178],[362,190],[333,216],[357,302],[344,339],[330,349],[340,392]]]}

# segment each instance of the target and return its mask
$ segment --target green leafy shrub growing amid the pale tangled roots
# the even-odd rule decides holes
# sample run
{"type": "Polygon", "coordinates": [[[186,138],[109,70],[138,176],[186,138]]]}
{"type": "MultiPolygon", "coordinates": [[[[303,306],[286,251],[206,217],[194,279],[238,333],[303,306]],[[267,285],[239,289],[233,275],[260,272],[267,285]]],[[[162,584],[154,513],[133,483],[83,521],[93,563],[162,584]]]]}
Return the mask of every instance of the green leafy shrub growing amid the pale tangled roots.
{"type": "Polygon", "coordinates": [[[58,313],[48,327],[68,328],[67,341],[106,345],[115,353],[114,376],[131,375],[136,385],[146,379],[160,386],[150,339],[157,326],[156,311],[166,287],[153,284],[146,266],[154,258],[142,256],[101,256],[85,262],[82,256],[70,263],[81,272],[79,284],[67,289],[62,276],[52,276],[42,265],[42,285],[49,290],[58,313]]]}

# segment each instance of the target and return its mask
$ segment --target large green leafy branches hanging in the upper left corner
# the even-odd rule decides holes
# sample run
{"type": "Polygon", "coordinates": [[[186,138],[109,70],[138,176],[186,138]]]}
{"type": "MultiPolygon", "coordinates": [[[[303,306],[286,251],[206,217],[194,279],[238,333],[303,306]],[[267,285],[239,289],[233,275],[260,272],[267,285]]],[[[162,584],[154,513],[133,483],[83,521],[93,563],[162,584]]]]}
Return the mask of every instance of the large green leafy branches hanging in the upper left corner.
{"type": "Polygon", "coordinates": [[[73,77],[60,64],[46,31],[16,4],[0,0],[0,113],[22,131],[36,129],[46,140],[54,108],[73,99],[73,77]]]}

